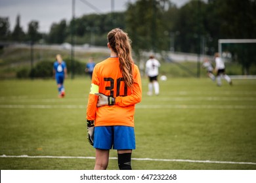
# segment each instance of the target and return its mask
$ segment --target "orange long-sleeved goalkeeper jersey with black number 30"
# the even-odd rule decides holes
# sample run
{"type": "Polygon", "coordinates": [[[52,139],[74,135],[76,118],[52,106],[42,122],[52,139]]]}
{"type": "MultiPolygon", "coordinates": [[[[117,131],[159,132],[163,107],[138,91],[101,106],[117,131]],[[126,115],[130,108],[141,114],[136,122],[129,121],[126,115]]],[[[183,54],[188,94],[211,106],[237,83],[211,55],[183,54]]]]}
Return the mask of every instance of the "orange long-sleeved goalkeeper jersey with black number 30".
{"type": "Polygon", "coordinates": [[[133,65],[133,78],[133,87],[127,88],[119,69],[118,58],[108,58],[96,64],[92,86],[98,87],[98,93],[115,97],[116,105],[96,107],[98,96],[89,93],[87,120],[95,120],[95,126],[134,127],[135,104],[142,99],[140,72],[137,65],[133,65]]]}

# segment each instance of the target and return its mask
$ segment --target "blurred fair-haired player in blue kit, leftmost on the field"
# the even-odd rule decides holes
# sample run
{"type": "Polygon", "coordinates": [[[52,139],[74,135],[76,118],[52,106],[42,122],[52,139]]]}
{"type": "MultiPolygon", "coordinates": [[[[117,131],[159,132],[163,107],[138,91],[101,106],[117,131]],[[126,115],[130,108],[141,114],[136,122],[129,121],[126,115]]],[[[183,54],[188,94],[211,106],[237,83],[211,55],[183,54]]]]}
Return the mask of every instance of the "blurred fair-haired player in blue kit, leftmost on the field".
{"type": "Polygon", "coordinates": [[[53,77],[58,86],[58,97],[63,98],[65,96],[64,79],[68,77],[68,70],[60,54],[56,55],[56,61],[53,63],[53,77]]]}

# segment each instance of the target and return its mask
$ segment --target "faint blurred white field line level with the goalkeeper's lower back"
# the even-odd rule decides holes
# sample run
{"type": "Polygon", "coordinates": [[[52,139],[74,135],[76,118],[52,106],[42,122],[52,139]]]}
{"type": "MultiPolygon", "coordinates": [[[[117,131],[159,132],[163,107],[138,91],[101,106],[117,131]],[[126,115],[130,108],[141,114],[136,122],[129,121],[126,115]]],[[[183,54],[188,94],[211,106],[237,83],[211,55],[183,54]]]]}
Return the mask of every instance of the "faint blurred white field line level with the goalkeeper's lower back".
{"type": "MultiPolygon", "coordinates": [[[[86,105],[0,105],[0,108],[86,108],[86,105]]],[[[136,108],[221,108],[221,109],[254,109],[256,105],[136,105],[136,108]]]]}

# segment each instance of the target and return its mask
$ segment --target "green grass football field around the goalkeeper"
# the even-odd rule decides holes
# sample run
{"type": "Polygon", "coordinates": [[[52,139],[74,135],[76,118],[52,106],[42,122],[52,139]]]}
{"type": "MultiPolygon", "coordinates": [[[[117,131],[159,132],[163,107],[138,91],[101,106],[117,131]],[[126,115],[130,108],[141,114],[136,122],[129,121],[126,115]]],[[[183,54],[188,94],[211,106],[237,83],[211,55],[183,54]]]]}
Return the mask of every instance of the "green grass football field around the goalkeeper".
{"type": "MultiPolygon", "coordinates": [[[[66,80],[58,99],[54,80],[0,80],[0,169],[93,169],[95,159],[77,158],[95,156],[85,136],[90,82],[66,80]]],[[[255,170],[256,80],[233,83],[168,78],[149,97],[142,78],[133,169],[255,170]]],[[[116,151],[110,156],[108,169],[118,169],[116,151]]]]}

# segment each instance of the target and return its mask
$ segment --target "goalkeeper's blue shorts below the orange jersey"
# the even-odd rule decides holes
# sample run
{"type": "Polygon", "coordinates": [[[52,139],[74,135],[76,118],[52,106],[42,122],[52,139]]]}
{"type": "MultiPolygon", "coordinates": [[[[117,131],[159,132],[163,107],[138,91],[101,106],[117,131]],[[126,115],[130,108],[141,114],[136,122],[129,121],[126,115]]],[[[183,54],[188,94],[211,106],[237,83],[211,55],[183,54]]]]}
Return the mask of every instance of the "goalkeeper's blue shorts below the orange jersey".
{"type": "Polygon", "coordinates": [[[97,126],[93,146],[104,150],[135,149],[134,127],[128,126],[97,126]]]}

